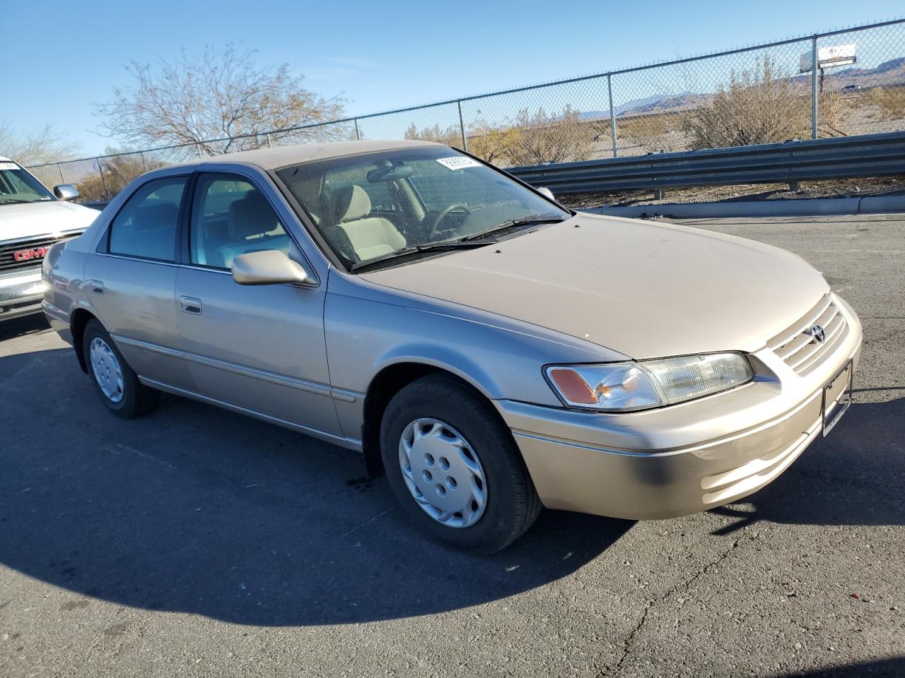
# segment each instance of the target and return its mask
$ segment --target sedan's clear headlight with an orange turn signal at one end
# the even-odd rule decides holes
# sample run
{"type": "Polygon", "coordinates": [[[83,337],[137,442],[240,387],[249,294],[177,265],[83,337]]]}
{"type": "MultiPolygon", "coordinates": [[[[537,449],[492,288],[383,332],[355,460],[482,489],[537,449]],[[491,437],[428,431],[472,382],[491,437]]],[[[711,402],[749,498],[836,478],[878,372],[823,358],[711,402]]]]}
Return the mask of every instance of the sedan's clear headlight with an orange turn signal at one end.
{"type": "Polygon", "coordinates": [[[548,381],[568,407],[631,411],[726,391],[751,381],[741,353],[707,353],[637,363],[550,365],[548,381]]]}

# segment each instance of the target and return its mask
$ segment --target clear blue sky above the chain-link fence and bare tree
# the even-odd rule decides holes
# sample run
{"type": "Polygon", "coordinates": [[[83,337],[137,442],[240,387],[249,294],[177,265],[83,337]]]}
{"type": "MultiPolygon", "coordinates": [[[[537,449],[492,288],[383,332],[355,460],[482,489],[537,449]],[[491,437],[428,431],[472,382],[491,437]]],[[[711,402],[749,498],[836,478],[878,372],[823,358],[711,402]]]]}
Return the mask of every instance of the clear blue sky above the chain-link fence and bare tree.
{"type": "Polygon", "coordinates": [[[95,132],[92,104],[129,85],[124,64],[172,59],[182,47],[257,49],[259,63],[289,63],[309,89],[348,99],[355,115],[867,24],[905,8],[901,0],[39,5],[0,0],[5,54],[18,64],[0,78],[0,121],[20,131],[50,124],[82,155],[116,146],[95,132]]]}

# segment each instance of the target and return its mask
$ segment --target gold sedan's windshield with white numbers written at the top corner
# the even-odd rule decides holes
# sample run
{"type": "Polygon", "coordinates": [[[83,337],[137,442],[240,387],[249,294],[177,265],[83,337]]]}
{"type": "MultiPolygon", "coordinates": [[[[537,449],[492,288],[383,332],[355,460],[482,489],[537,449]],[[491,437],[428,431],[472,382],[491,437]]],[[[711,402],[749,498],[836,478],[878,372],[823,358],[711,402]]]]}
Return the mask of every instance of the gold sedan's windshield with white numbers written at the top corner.
{"type": "Polygon", "coordinates": [[[332,158],[277,175],[349,268],[453,244],[476,247],[498,237],[492,231],[569,216],[446,146],[332,158]]]}

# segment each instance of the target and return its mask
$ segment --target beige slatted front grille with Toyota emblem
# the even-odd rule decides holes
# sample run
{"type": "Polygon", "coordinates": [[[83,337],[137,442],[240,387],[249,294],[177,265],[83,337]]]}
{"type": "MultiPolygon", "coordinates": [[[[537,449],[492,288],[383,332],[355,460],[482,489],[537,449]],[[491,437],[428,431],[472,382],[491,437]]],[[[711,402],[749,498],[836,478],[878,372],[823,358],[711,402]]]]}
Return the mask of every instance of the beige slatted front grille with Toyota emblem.
{"type": "Polygon", "coordinates": [[[839,312],[833,299],[827,295],[795,322],[795,325],[776,334],[767,342],[767,346],[795,370],[795,373],[805,376],[823,363],[824,359],[834,352],[836,346],[845,341],[848,333],[849,327],[845,317],[839,312]],[[810,334],[805,334],[805,330],[812,325],[824,328],[826,338],[823,343],[818,344],[810,334]]]}

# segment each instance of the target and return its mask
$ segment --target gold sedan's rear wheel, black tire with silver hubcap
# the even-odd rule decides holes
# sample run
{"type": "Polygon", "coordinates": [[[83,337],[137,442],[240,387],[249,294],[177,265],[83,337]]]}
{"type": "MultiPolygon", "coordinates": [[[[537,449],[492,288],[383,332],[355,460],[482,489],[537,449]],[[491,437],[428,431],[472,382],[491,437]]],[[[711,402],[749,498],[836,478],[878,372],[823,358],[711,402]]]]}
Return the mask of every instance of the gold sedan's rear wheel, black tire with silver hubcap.
{"type": "Polygon", "coordinates": [[[129,363],[123,358],[122,353],[119,353],[110,334],[99,321],[90,320],[85,325],[81,347],[91,383],[94,384],[101,402],[113,414],[122,419],[134,419],[148,414],[157,407],[160,391],[138,381],[138,375],[129,367],[129,363]]]}

